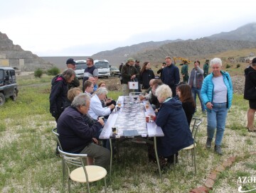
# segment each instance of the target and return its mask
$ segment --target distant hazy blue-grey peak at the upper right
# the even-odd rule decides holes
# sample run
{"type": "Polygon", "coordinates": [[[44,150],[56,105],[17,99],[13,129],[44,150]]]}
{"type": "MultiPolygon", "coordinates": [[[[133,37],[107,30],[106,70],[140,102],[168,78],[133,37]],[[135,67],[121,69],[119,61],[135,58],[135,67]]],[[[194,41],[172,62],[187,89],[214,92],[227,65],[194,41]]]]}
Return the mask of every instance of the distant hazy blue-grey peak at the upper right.
{"type": "Polygon", "coordinates": [[[237,28],[235,31],[222,32],[215,35],[210,35],[207,38],[210,40],[245,40],[256,41],[256,23],[248,23],[245,26],[237,28]]]}

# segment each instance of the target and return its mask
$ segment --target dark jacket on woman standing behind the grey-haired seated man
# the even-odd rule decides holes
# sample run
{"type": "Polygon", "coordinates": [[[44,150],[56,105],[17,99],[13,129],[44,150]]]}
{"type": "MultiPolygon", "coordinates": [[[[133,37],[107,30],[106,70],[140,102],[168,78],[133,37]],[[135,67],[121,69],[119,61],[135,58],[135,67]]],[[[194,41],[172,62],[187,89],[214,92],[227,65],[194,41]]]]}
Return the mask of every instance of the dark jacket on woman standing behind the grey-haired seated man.
{"type": "Polygon", "coordinates": [[[53,117],[59,117],[65,108],[67,101],[68,83],[62,75],[57,75],[52,79],[50,91],[50,114],[53,117]]]}

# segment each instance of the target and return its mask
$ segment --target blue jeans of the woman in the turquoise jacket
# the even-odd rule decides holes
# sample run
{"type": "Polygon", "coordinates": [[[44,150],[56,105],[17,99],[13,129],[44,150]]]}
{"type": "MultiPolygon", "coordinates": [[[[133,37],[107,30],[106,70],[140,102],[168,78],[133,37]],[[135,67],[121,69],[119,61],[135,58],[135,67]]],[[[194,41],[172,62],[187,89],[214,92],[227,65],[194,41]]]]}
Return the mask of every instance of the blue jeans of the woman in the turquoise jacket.
{"type": "Polygon", "coordinates": [[[225,121],[228,114],[227,103],[212,103],[213,109],[207,109],[207,136],[213,139],[215,128],[215,145],[221,145],[224,131],[225,121]]]}

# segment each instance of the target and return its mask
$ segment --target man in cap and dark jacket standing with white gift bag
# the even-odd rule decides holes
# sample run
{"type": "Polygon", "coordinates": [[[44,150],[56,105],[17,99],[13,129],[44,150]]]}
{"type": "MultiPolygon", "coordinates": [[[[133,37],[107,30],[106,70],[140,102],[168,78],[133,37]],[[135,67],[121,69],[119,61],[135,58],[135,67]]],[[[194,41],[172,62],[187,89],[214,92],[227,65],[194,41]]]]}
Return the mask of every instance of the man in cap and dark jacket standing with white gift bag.
{"type": "Polygon", "coordinates": [[[127,60],[127,64],[122,67],[121,75],[122,75],[122,92],[123,96],[129,95],[129,92],[134,92],[134,89],[128,88],[128,82],[134,81],[134,79],[139,75],[136,67],[134,65],[134,59],[130,57],[127,60]]]}

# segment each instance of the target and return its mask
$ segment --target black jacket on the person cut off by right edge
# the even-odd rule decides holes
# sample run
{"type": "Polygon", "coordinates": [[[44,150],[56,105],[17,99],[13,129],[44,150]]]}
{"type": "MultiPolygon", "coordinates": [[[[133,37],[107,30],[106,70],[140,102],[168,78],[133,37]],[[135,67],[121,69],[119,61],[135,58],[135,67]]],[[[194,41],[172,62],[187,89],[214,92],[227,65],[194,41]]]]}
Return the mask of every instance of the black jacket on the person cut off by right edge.
{"type": "Polygon", "coordinates": [[[251,66],[245,69],[244,99],[256,100],[256,70],[251,66]]]}

